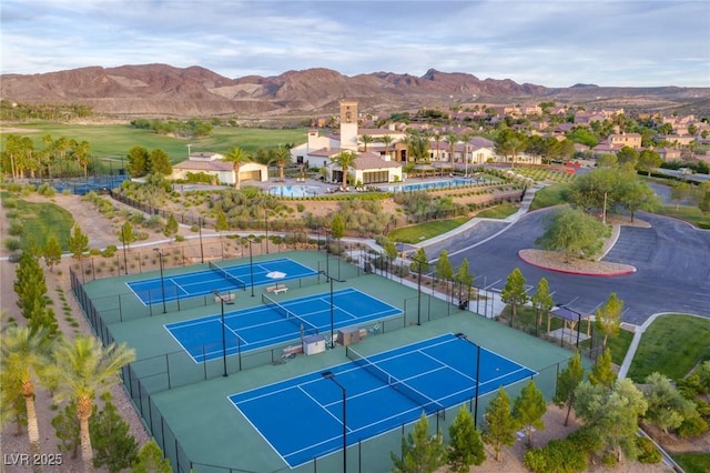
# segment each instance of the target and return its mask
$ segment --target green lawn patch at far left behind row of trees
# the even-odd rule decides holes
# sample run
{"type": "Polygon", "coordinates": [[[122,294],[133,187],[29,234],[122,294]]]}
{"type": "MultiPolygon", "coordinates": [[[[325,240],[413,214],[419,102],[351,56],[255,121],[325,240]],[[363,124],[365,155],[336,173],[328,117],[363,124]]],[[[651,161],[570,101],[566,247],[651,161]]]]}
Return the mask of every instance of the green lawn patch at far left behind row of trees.
{"type": "Polygon", "coordinates": [[[69,234],[74,224],[72,214],[54,203],[37,203],[23,200],[17,201],[22,227],[22,242],[28,239],[43,248],[50,235],[54,235],[62,251],[69,251],[69,234]]]}

